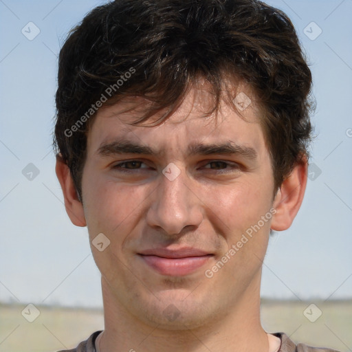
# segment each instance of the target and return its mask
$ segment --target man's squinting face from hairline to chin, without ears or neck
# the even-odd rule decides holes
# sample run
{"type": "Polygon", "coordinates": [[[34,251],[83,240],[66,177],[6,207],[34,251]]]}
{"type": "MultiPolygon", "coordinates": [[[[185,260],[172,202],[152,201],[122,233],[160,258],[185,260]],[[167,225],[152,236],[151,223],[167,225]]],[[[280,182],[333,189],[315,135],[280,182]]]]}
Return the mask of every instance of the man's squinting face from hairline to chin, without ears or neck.
{"type": "Polygon", "coordinates": [[[89,131],[91,250],[106,289],[148,325],[197,327],[259,295],[274,213],[259,112],[250,104],[243,119],[223,102],[217,120],[205,118],[206,101],[191,91],[153,127],[131,126],[140,111],[119,102],[89,131]]]}

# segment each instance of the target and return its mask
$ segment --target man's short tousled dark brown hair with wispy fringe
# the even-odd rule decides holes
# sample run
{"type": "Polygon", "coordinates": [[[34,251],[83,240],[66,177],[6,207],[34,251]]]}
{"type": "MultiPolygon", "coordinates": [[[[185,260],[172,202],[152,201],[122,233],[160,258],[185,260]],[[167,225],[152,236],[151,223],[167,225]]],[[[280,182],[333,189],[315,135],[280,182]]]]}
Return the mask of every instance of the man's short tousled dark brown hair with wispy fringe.
{"type": "Polygon", "coordinates": [[[89,12],[61,49],[56,92],[54,146],[78,195],[101,102],[141,96],[152,104],[133,124],[165,110],[162,122],[201,76],[214,96],[212,113],[229,74],[233,85],[248,83],[261,106],[278,188],[309,156],[314,105],[311,72],[286,14],[256,0],[115,0],[89,12]]]}

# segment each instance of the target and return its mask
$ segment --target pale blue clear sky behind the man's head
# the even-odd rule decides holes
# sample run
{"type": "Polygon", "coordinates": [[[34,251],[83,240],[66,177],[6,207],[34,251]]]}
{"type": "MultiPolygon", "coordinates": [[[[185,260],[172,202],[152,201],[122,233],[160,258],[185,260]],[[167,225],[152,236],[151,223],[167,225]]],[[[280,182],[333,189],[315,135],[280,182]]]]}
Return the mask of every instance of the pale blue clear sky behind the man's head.
{"type": "MultiPolygon", "coordinates": [[[[69,221],[52,151],[57,56],[96,0],[0,0],[0,302],[102,307],[87,228],[69,221]]],[[[352,297],[352,1],[267,1],[292,19],[314,75],[303,206],[276,232],[265,298],[352,297]]]]}

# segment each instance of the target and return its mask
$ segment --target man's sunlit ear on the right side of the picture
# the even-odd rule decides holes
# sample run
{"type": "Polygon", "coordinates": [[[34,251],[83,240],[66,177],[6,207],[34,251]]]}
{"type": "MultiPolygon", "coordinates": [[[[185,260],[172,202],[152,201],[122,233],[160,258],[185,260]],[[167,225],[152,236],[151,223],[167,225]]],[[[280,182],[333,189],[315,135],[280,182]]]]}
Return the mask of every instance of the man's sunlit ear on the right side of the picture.
{"type": "Polygon", "coordinates": [[[276,213],[272,217],[272,230],[287,230],[294,221],[303,201],[307,186],[308,162],[304,155],[296,162],[292,173],[286,177],[274,198],[276,213]]]}

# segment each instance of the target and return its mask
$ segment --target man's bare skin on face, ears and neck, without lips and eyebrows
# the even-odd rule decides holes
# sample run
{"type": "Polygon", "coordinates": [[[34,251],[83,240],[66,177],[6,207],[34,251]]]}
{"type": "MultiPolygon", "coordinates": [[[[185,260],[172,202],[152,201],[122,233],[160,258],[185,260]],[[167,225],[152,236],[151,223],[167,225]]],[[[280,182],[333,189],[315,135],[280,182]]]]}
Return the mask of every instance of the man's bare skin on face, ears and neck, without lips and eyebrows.
{"type": "Polygon", "coordinates": [[[278,348],[278,339],[261,327],[262,262],[270,228],[289,228],[300,208],[307,159],[296,164],[274,192],[270,153],[259,123],[261,114],[250,89],[245,92],[252,98],[252,104],[241,112],[245,120],[225,101],[217,122],[214,116],[204,118],[203,107],[209,97],[195,89],[159,126],[130,125],[141,113],[138,99],[101,108],[87,138],[83,203],[67,165],[57,158],[56,174],[67,214],[75,225],[87,225],[94,260],[102,274],[105,329],[98,338],[100,351],[278,348]],[[131,107],[135,110],[126,112],[131,107]],[[164,153],[99,153],[103,145],[122,137],[164,153]],[[191,143],[228,141],[251,148],[255,157],[187,153],[191,143]],[[136,162],[116,166],[131,159],[136,162]],[[170,163],[180,171],[173,181],[162,173],[170,163]],[[128,168],[129,173],[121,168],[128,168]],[[205,271],[270,209],[276,211],[270,221],[212,278],[206,277],[205,271]],[[100,233],[110,241],[102,252],[92,245],[100,233]],[[149,248],[184,246],[211,256],[197,270],[182,276],[160,274],[138,254],[149,248]],[[173,319],[165,309],[175,314],[173,319]]]}

